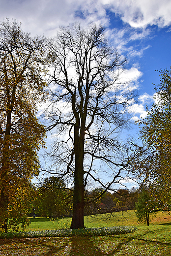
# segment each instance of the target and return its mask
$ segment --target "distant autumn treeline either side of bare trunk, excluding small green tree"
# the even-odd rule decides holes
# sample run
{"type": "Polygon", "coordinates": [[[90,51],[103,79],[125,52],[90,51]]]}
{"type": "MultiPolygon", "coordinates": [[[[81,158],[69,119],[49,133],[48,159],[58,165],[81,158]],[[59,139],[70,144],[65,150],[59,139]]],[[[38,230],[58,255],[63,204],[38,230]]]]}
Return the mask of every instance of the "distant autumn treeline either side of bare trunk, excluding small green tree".
{"type": "MultiPolygon", "coordinates": [[[[50,218],[72,216],[73,190],[66,188],[63,180],[55,176],[46,178],[39,186],[34,186],[33,191],[29,216],[50,218]]],[[[85,215],[133,210],[139,190],[132,188],[130,191],[119,189],[113,193],[104,192],[98,200],[93,200],[102,193],[102,188],[85,191],[85,201],[91,201],[85,205],[85,215]]]]}

